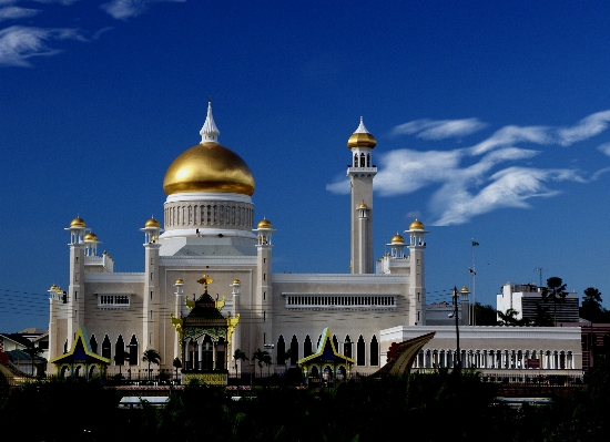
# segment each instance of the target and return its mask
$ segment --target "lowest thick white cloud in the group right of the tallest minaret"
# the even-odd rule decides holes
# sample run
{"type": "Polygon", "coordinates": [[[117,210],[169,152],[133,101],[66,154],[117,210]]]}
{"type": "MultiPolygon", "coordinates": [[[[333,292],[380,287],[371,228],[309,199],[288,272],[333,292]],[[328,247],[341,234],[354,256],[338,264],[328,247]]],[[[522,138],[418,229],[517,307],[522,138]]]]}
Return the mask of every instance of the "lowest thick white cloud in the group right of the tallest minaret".
{"type": "Polygon", "coordinates": [[[472,195],[459,179],[446,183],[433,197],[431,206],[439,218],[433,225],[464,224],[470,218],[505,207],[530,207],[528,199],[550,197],[559,191],[547,188],[547,182],[584,182],[571,169],[508,167],[489,177],[491,184],[472,195]]]}

